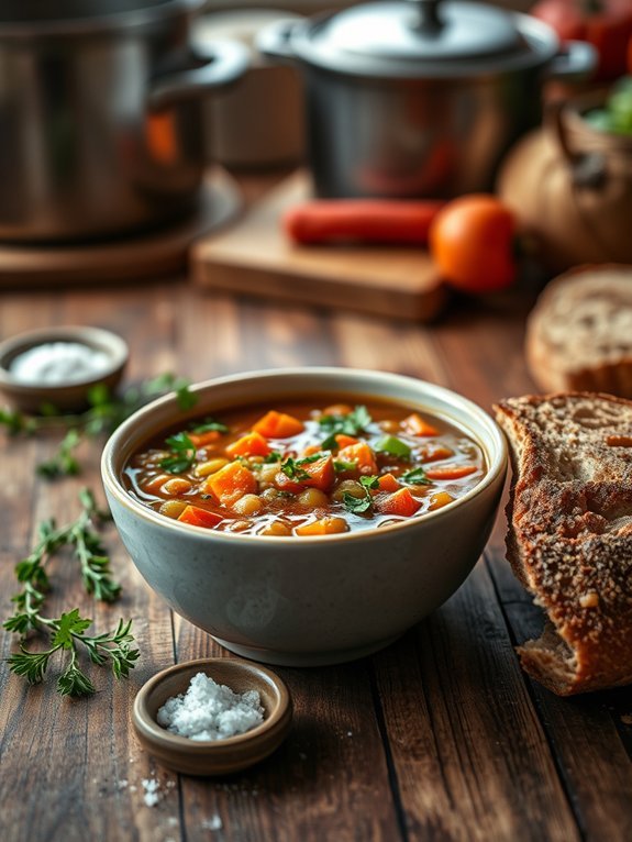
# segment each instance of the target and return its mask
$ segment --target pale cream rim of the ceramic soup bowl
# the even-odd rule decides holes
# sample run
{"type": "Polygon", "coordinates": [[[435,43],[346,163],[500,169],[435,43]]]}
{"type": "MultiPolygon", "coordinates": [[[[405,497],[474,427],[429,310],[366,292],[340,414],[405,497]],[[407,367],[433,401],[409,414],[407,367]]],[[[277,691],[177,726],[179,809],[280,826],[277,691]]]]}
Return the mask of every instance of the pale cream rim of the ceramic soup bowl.
{"type": "MultiPolygon", "coordinates": [[[[348,367],[323,367],[323,366],[309,366],[304,368],[271,368],[271,369],[264,369],[264,370],[252,370],[252,372],[242,372],[240,374],[234,375],[228,375],[225,377],[215,377],[209,380],[204,380],[201,383],[197,383],[190,387],[190,391],[193,394],[197,392],[204,392],[209,389],[212,389],[214,387],[222,387],[230,384],[246,384],[252,380],[256,379],[279,379],[279,378],[289,378],[289,377],[304,377],[306,378],[306,391],[309,390],[309,378],[310,377],[320,377],[320,378],[326,378],[331,377],[332,383],[328,385],[328,387],[321,387],[319,391],[326,391],[328,389],[331,389],[332,391],[337,390],[342,391],[344,390],[343,380],[344,378],[354,378],[354,380],[357,380],[358,383],[354,385],[353,389],[350,389],[351,397],[353,397],[354,392],[357,392],[357,395],[370,395],[370,384],[375,383],[376,380],[384,381],[385,379],[388,379],[393,384],[393,386],[397,386],[398,384],[401,387],[408,386],[414,387],[419,389],[419,398],[420,402],[423,399],[424,396],[428,396],[430,398],[435,398],[451,407],[458,407],[462,411],[465,411],[468,416],[472,416],[476,422],[485,429],[485,431],[488,433],[492,445],[494,445],[494,452],[490,453],[490,448],[483,446],[483,444],[479,441],[478,435],[473,430],[467,430],[467,433],[469,436],[474,437],[475,441],[479,444],[479,446],[483,447],[485,456],[488,461],[488,468],[486,475],[483,477],[480,483],[478,483],[474,488],[472,488],[467,494],[463,495],[458,499],[456,499],[454,502],[448,503],[447,506],[442,507],[441,509],[437,509],[435,511],[431,512],[424,512],[424,514],[420,518],[411,518],[407,521],[400,521],[397,523],[389,523],[384,527],[379,527],[379,529],[366,529],[366,530],[359,530],[359,531],[351,531],[351,532],[344,532],[344,533],[336,533],[335,535],[310,535],[310,536],[301,536],[300,544],[314,544],[314,543],[322,543],[323,541],[366,541],[369,536],[372,540],[379,540],[381,538],[386,538],[388,533],[392,532],[392,530],[401,530],[401,529],[412,529],[415,525],[420,525],[424,522],[428,522],[429,519],[435,519],[441,518],[444,516],[446,511],[452,511],[455,507],[462,506],[467,500],[472,499],[473,497],[478,496],[481,494],[488,486],[490,486],[492,483],[496,481],[498,478],[498,475],[503,473],[507,468],[507,443],[505,440],[505,435],[496,421],[487,413],[484,409],[481,409],[478,405],[470,401],[468,398],[464,398],[462,395],[458,395],[455,391],[452,391],[450,389],[446,389],[443,386],[437,386],[435,384],[428,383],[426,380],[417,379],[413,377],[408,377],[406,375],[399,375],[393,374],[391,372],[381,372],[381,370],[369,370],[369,369],[363,369],[363,368],[348,368],[348,367]],[[337,380],[337,383],[336,383],[337,380]],[[359,381],[363,380],[366,385],[366,390],[361,390],[361,384],[359,381]]],[[[270,386],[270,395],[274,396],[274,388],[270,386]]],[[[376,395],[376,398],[385,398],[387,396],[382,395],[376,395]]],[[[396,394],[388,396],[390,400],[393,402],[402,402],[406,403],[406,400],[403,398],[398,398],[396,394]]],[[[157,398],[156,400],[153,400],[151,403],[145,405],[141,409],[136,410],[130,418],[127,418],[123,423],[117,428],[117,430],[112,433],[110,439],[107,441],[106,446],[103,448],[103,454],[101,458],[101,474],[103,478],[103,483],[106,485],[106,488],[110,491],[110,494],[117,498],[117,500],[123,505],[124,507],[127,507],[134,511],[134,513],[143,518],[149,522],[153,522],[155,524],[162,525],[165,529],[171,529],[176,531],[181,531],[182,534],[191,534],[191,530],[195,531],[196,534],[207,534],[209,536],[209,540],[212,540],[213,542],[220,541],[220,542],[233,542],[233,541],[255,541],[258,542],[259,545],[262,541],[265,542],[266,545],[271,546],[275,544],[286,545],[288,543],[287,538],[280,538],[275,535],[252,535],[252,534],[241,534],[241,533],[234,533],[234,532],[220,532],[217,530],[209,530],[204,529],[203,527],[195,527],[188,523],[180,523],[177,520],[173,520],[171,518],[167,518],[164,514],[160,514],[159,512],[154,511],[153,509],[149,509],[144,503],[136,500],[132,495],[129,494],[129,491],[123,487],[120,476],[119,476],[119,466],[115,464],[115,454],[119,450],[119,447],[124,444],[131,433],[134,429],[136,429],[138,422],[143,422],[144,419],[149,418],[154,411],[160,407],[165,407],[168,405],[173,405],[174,407],[177,406],[177,396],[175,392],[171,392],[169,395],[165,395],[160,398],[157,398]]],[[[242,406],[246,407],[248,405],[247,398],[243,400],[242,406]]],[[[232,406],[239,406],[239,405],[232,405],[232,406]]],[[[218,411],[221,412],[222,406],[221,403],[218,406],[218,411]]],[[[439,414],[431,410],[433,414],[439,414]]],[[[448,422],[454,424],[457,429],[463,430],[463,424],[459,423],[455,418],[451,417],[448,412],[443,413],[443,416],[448,422]]],[[[174,417],[173,419],[176,421],[177,419],[174,417]]],[[[122,467],[122,466],[121,466],[122,467]]]]}

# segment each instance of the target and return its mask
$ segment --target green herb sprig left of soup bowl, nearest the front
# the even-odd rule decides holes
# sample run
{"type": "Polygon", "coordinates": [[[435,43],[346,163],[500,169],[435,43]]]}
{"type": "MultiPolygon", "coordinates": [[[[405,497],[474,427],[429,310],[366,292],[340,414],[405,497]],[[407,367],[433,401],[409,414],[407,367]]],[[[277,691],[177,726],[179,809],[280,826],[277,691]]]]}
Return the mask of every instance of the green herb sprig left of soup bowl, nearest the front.
{"type": "Polygon", "coordinates": [[[95,497],[88,489],[82,489],[79,497],[81,512],[73,523],[58,528],[53,519],[48,519],[40,524],[35,547],[15,566],[15,576],[22,584],[22,590],[12,597],[14,613],[3,623],[7,631],[22,638],[20,652],[8,658],[10,669],[32,684],[42,682],[51,657],[56,652],[66,653],[65,669],[57,680],[57,690],[70,696],[95,693],[92,682],[79,667],[79,644],[86,649],[93,664],[102,666],[109,663],[117,678],[129,676],[140,654],[138,650],[133,649],[131,621],[120,620],[113,631],[87,635],[85,632],[92,620],[82,618],[79,609],[64,612],[58,618],[45,617],[42,612],[51,588],[45,567],[64,546],[73,549],[88,594],[112,602],[121,591],[120,584],[111,576],[110,558],[101,536],[95,531],[95,524],[109,518],[109,513],[97,508],[95,497]],[[27,650],[23,641],[30,632],[47,634],[49,647],[42,652],[27,650]]]}

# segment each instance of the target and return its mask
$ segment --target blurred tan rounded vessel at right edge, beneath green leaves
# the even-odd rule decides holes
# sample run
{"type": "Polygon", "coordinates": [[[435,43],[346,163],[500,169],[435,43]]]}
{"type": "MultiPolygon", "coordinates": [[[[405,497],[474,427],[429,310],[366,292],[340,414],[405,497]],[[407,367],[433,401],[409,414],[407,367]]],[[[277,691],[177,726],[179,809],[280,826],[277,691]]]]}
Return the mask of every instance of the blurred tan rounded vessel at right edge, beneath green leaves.
{"type": "Polygon", "coordinates": [[[552,272],[632,263],[632,134],[602,131],[585,119],[605,98],[576,98],[552,110],[499,175],[499,195],[552,272]]]}

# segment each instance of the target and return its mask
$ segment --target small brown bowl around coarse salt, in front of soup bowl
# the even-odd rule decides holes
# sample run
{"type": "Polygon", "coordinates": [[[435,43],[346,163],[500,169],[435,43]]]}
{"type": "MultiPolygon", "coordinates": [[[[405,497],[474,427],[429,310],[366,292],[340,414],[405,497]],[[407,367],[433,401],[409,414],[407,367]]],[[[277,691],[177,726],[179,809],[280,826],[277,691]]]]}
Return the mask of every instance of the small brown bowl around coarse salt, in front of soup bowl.
{"type": "Polygon", "coordinates": [[[187,775],[226,775],[263,761],[287,736],[291,719],[290,695],[278,675],[250,661],[224,657],[188,661],[163,669],[141,688],[132,711],[136,734],[149,754],[187,775]],[[159,725],[158,709],[171,696],[185,693],[198,673],[234,693],[258,690],[265,710],[263,723],[244,734],[213,741],[190,740],[159,725]]]}

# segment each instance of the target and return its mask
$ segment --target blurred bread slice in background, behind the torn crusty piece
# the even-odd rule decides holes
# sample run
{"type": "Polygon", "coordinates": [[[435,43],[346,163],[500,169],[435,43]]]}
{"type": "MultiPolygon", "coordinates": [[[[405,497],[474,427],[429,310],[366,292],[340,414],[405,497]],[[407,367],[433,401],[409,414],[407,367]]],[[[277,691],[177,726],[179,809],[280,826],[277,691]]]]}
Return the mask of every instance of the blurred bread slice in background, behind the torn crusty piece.
{"type": "Polygon", "coordinates": [[[554,278],[529,314],[524,353],[543,391],[632,398],[632,266],[584,266],[554,278]]]}

